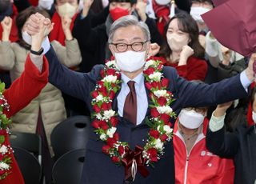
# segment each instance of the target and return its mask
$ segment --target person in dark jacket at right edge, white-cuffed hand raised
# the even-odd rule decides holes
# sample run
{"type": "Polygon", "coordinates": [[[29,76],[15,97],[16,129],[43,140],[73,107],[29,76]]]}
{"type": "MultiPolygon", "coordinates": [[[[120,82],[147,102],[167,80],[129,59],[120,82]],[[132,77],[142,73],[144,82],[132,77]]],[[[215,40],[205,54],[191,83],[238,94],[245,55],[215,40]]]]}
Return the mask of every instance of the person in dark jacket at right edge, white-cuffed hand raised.
{"type": "Polygon", "coordinates": [[[226,133],[224,119],[230,103],[218,105],[210,118],[206,134],[206,146],[222,158],[233,158],[235,166],[234,183],[250,184],[256,181],[256,88],[250,95],[250,108],[253,123],[250,126],[239,125],[232,133],[226,133]]]}

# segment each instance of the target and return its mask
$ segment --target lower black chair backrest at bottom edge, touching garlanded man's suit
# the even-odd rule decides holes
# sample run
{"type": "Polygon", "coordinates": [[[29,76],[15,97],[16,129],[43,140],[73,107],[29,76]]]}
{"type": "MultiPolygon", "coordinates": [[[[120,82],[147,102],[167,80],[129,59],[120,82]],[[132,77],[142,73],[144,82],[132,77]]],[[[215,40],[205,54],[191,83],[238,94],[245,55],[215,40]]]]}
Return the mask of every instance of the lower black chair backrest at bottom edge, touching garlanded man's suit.
{"type": "Polygon", "coordinates": [[[58,158],[52,170],[54,184],[80,184],[85,154],[85,149],[70,150],[58,158]]]}

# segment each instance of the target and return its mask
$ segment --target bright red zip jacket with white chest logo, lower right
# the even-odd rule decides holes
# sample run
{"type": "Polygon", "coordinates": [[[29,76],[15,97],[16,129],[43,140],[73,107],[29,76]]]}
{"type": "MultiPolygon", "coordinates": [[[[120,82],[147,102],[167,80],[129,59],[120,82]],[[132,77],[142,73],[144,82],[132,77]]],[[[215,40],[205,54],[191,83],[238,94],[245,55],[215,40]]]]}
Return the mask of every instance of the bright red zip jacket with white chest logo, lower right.
{"type": "Polygon", "coordinates": [[[234,183],[232,159],[219,158],[206,149],[208,119],[203,122],[202,134],[186,153],[186,145],[178,132],[178,121],[174,125],[174,163],[176,184],[231,184],[234,183]]]}

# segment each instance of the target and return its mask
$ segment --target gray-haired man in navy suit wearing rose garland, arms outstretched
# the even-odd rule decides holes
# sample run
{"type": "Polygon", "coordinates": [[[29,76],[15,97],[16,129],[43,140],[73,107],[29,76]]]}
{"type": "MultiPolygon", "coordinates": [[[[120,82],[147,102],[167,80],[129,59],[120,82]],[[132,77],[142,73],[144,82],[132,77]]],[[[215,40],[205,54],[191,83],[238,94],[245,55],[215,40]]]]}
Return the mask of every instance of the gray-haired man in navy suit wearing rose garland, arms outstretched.
{"type": "MultiPolygon", "coordinates": [[[[31,15],[30,35],[37,32],[38,22],[51,25],[41,14],[31,15]]],[[[92,114],[83,184],[174,183],[170,138],[175,114],[188,106],[242,98],[254,80],[256,54],[248,68],[234,78],[213,85],[188,82],[172,67],[152,59],[146,62],[149,40],[146,23],[126,15],[110,27],[109,47],[115,59],[105,66],[78,73],[62,66],[53,49],[46,53],[50,82],[84,100],[92,114]],[[230,93],[234,90],[236,93],[230,93]]]]}

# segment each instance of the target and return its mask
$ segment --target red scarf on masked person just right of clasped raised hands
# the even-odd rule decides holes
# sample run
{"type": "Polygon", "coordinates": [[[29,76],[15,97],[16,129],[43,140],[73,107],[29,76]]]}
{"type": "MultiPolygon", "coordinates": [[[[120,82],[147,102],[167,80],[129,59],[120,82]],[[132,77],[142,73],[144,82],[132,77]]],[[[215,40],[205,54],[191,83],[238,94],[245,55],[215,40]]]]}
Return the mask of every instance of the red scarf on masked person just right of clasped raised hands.
{"type": "MultiPolygon", "coordinates": [[[[74,27],[74,20],[77,18],[78,14],[74,14],[71,24],[70,24],[70,30],[73,30],[74,27]]],[[[62,44],[62,46],[65,46],[65,34],[62,29],[62,18],[58,15],[57,12],[54,13],[53,18],[51,18],[51,22],[54,22],[54,30],[50,33],[50,42],[57,40],[62,44]]]]}

